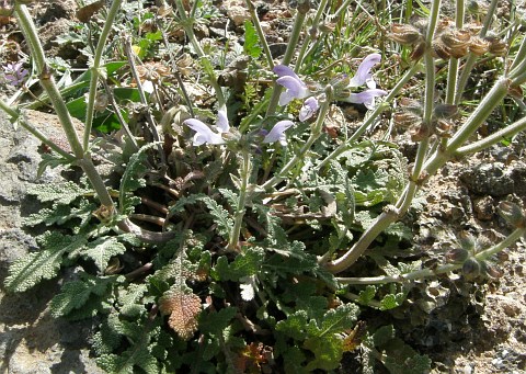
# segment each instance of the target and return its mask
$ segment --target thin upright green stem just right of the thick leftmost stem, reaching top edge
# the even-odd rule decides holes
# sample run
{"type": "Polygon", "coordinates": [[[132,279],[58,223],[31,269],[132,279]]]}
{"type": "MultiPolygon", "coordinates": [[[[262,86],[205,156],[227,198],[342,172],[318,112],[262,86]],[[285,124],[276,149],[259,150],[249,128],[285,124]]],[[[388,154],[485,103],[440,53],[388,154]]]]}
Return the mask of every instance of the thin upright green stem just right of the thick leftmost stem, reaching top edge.
{"type": "Polygon", "coordinates": [[[121,9],[122,2],[123,0],[112,1],[112,7],[110,7],[110,10],[107,11],[104,27],[102,27],[101,35],[99,36],[99,43],[96,44],[95,54],[93,55],[93,65],[90,68],[90,89],[88,91],[88,104],[85,110],[85,127],[83,137],[84,151],[88,151],[88,148],[90,147],[91,128],[93,126],[93,116],[95,111],[96,87],[99,78],[101,77],[102,54],[104,53],[107,37],[110,36],[110,32],[113,27],[113,22],[115,21],[115,16],[117,15],[118,10],[121,9]]]}

